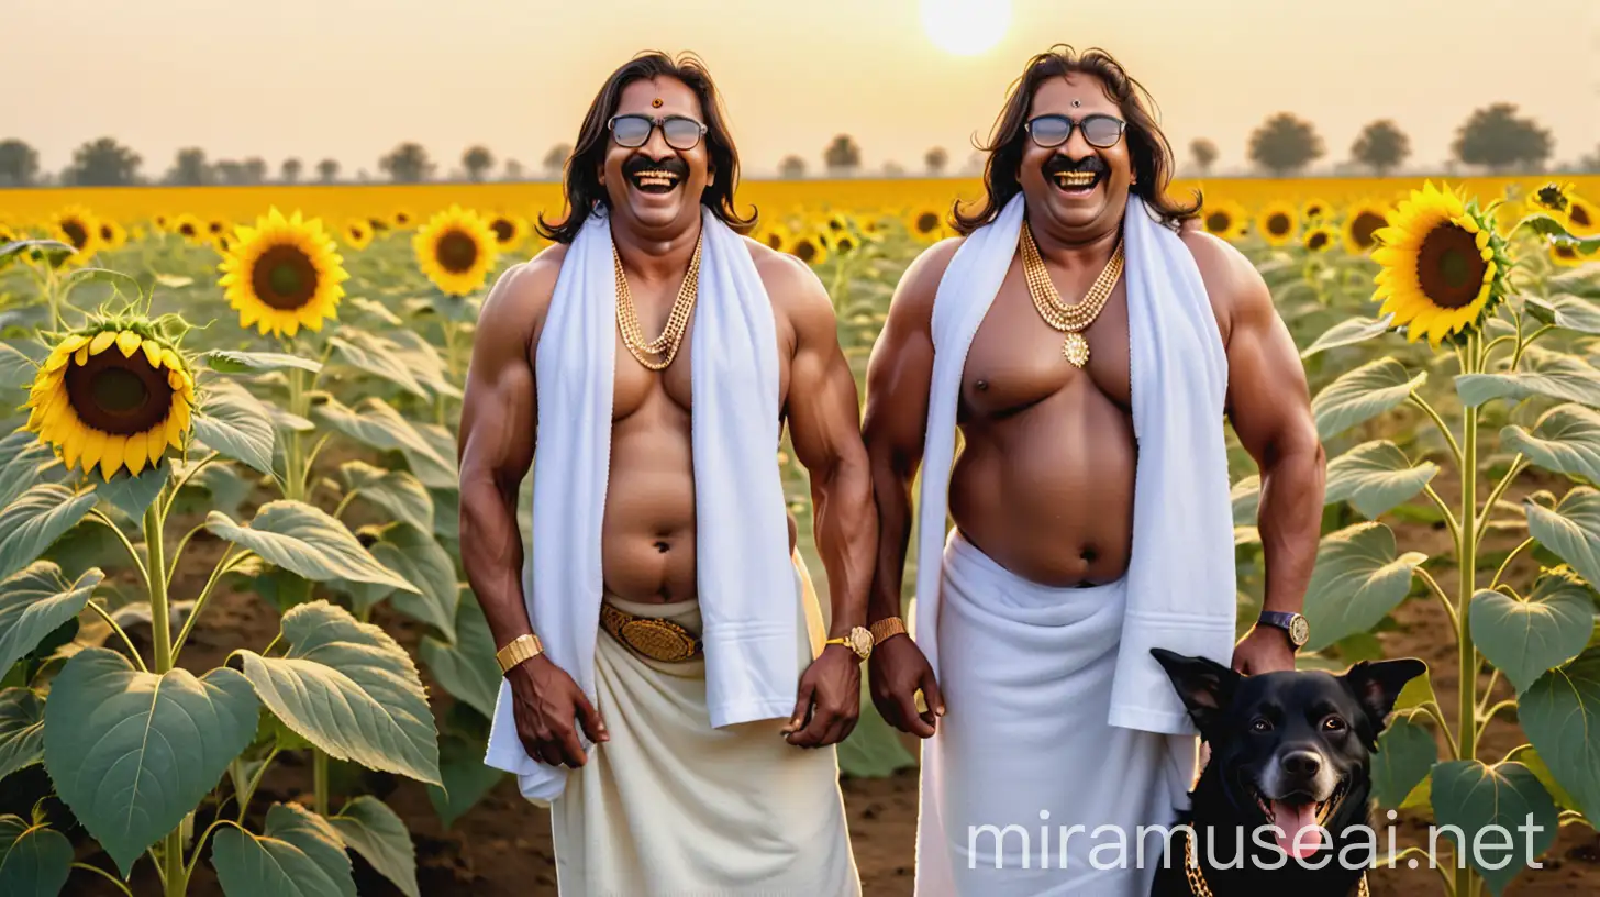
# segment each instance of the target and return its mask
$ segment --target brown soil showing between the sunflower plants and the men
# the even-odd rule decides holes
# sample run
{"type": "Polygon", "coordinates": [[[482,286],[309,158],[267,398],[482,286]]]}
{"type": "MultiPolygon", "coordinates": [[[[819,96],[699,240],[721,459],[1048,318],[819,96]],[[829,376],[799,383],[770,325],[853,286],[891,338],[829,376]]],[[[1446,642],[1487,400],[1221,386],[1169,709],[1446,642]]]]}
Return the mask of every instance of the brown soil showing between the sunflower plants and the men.
{"type": "MultiPolygon", "coordinates": [[[[1440,477],[1445,481],[1446,477],[1440,477]]],[[[1448,485],[1438,482],[1440,492],[1448,495],[1448,485]]],[[[1448,535],[1443,530],[1426,524],[1397,524],[1397,535],[1405,549],[1427,551],[1430,556],[1448,554],[1448,535]]],[[[1486,540],[1485,551],[1506,549],[1515,545],[1517,537],[1486,540]]],[[[219,556],[221,545],[210,538],[195,540],[190,548],[194,564],[186,564],[189,573],[202,577],[219,556]]],[[[1522,559],[1517,567],[1518,577],[1512,581],[1526,581],[1526,575],[1534,570],[1528,559],[1522,559]]],[[[1435,573],[1440,585],[1454,593],[1456,581],[1451,575],[1435,573]]],[[[200,581],[181,581],[174,594],[190,594],[200,581]]],[[[1434,687],[1440,697],[1446,714],[1453,718],[1456,703],[1456,660],[1453,639],[1445,613],[1429,597],[1413,597],[1395,613],[1400,628],[1381,634],[1387,657],[1421,657],[1432,670],[1434,687]]],[[[387,617],[379,623],[395,633],[402,642],[414,646],[419,633],[405,618],[387,617]]],[[[250,594],[229,593],[218,597],[206,612],[205,621],[197,628],[192,649],[184,655],[184,666],[206,670],[226,658],[227,650],[248,646],[261,649],[277,633],[277,613],[262,601],[250,594]]],[[[426,676],[426,671],[424,671],[426,676]]],[[[1504,689],[1504,686],[1501,686],[1504,689]]],[[[430,694],[442,694],[430,687],[430,694]]],[[[915,751],[914,740],[907,746],[915,751]]],[[[1498,759],[1510,748],[1523,743],[1520,730],[1514,722],[1501,722],[1485,737],[1482,756],[1498,759]]],[[[37,774],[38,770],[30,770],[37,774]]],[[[542,897],[555,894],[555,867],[550,847],[549,814],[526,804],[517,793],[515,783],[507,778],[501,782],[480,804],[469,814],[456,820],[454,827],[445,830],[434,814],[427,793],[414,782],[390,777],[360,774],[357,788],[387,801],[406,822],[418,849],[418,878],[426,895],[472,894],[482,897],[542,897]]],[[[915,770],[902,770],[890,778],[869,778],[843,782],[845,802],[850,817],[851,841],[854,844],[856,863],[861,870],[864,892],[870,897],[909,895],[912,892],[912,857],[917,823],[917,775],[915,770]]],[[[259,798],[253,806],[253,817],[259,817],[262,807],[274,801],[301,801],[310,804],[310,767],[309,762],[293,754],[283,754],[274,770],[262,783],[259,798]]],[[[334,798],[338,804],[338,796],[334,798]]],[[[24,807],[0,807],[5,812],[27,812],[24,807]]],[[[206,820],[197,820],[203,825],[206,820]]],[[[259,825],[259,819],[256,820],[259,825]]],[[[1381,838],[1387,838],[1382,825],[1378,825],[1381,838]]],[[[82,831],[72,833],[80,846],[80,860],[91,862],[101,868],[112,868],[110,860],[101,854],[82,831]]],[[[1427,827],[1419,814],[1402,815],[1398,822],[1398,843],[1402,846],[1426,843],[1427,827]]],[[[1450,862],[1450,860],[1443,860],[1450,862]]],[[[1509,889],[1514,895],[1547,895],[1547,894],[1595,894],[1600,892],[1600,838],[1586,827],[1570,827],[1562,831],[1555,846],[1541,857],[1542,870],[1525,870],[1509,889]]],[[[355,860],[357,886],[366,895],[397,895],[398,891],[378,876],[360,859],[355,860]]],[[[1418,870],[1384,870],[1371,876],[1371,892],[1378,897],[1440,894],[1442,887],[1437,871],[1426,867],[1418,870]]],[[[160,894],[154,870],[149,862],[141,860],[133,878],[136,895],[160,894]]],[[[115,897],[118,891],[107,883],[75,871],[67,887],[69,894],[83,897],[115,897]]],[[[221,889],[206,863],[200,863],[190,884],[192,895],[213,897],[221,889]]]]}

